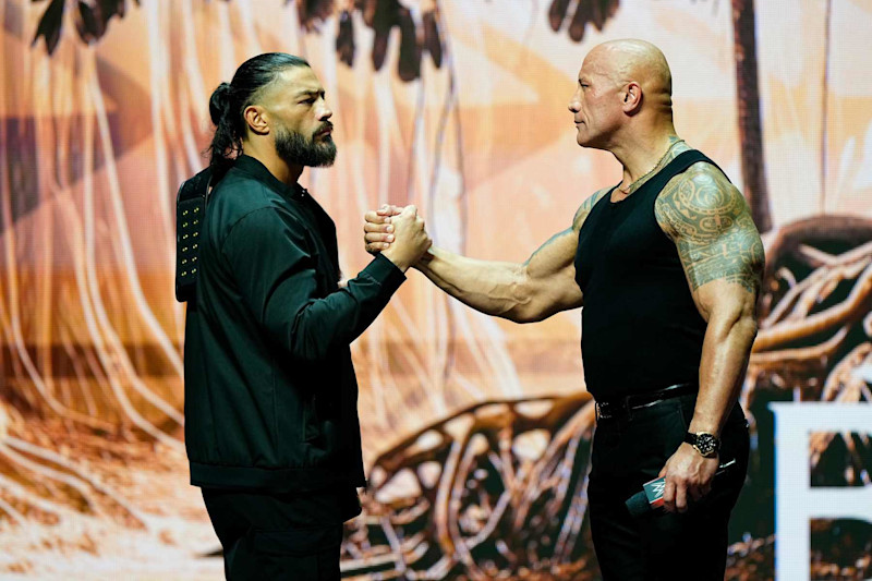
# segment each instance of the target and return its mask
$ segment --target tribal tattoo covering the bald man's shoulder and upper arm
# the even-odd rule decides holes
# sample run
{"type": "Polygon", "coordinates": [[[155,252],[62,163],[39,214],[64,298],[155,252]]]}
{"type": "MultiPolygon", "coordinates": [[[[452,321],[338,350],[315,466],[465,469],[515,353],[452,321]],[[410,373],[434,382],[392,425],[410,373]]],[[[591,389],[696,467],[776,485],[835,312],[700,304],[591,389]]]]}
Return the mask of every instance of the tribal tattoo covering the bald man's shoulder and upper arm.
{"type": "Polygon", "coordinates": [[[691,290],[726,280],[758,294],[763,243],[744,197],[717,169],[693,167],[673,179],[654,214],[678,249],[691,290]]]}

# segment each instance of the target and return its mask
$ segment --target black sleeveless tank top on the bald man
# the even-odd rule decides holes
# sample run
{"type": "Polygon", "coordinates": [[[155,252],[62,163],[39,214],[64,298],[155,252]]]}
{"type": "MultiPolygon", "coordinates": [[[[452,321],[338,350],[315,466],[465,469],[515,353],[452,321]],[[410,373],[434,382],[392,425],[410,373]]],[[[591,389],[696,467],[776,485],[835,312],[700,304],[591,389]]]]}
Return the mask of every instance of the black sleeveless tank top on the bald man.
{"type": "Polygon", "coordinates": [[[654,216],[666,183],[698,161],[717,167],[700,152],[685,152],[622,202],[611,202],[613,189],[581,227],[581,355],[588,390],[598,400],[699,380],[705,322],[678,250],[654,216]]]}

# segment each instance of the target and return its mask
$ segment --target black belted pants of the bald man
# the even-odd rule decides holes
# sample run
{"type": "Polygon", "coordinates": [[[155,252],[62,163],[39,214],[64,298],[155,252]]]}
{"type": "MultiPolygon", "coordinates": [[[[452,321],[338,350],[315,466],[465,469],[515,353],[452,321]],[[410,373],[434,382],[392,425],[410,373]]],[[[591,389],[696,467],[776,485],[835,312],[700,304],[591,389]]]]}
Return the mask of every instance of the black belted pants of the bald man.
{"type": "Polygon", "coordinates": [[[723,581],[729,515],[748,470],[748,424],[738,404],[722,431],[712,492],[685,513],[630,516],[625,500],[656,479],[683,441],[695,395],[669,399],[630,416],[597,422],[588,488],[591,533],[604,581],[723,581]]]}

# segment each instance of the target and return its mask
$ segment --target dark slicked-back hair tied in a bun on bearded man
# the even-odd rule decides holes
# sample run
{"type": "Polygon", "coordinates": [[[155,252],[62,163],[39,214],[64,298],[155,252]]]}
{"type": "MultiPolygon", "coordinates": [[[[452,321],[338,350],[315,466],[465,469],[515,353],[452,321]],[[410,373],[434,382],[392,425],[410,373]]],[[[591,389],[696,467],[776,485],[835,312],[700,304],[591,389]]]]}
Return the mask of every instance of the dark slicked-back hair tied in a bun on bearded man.
{"type": "Polygon", "coordinates": [[[262,89],[272,83],[284,69],[308,66],[308,62],[287,52],[267,52],[253,57],[237,69],[230,83],[218,85],[209,98],[209,116],[215,135],[209,145],[213,181],[219,180],[242,152],[245,136],[243,111],[256,101],[262,89]]]}

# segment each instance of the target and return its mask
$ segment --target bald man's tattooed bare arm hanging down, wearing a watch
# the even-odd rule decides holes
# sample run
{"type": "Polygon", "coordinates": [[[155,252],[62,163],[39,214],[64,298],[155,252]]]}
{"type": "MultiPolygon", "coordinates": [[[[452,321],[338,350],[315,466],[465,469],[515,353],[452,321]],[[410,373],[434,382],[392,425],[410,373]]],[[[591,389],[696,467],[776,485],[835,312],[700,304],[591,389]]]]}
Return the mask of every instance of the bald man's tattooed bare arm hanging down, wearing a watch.
{"type": "MultiPolygon", "coordinates": [[[[678,249],[693,301],[707,324],[689,429],[719,435],[738,399],[756,336],[763,244],[744,197],[707,164],[673,179],[657,198],[655,215],[678,249]]],[[[662,472],[667,475],[667,504],[670,473],[680,510],[681,484],[694,497],[705,494],[716,465],[716,460],[681,445],[662,472]]]]}

